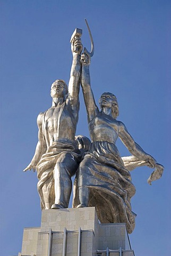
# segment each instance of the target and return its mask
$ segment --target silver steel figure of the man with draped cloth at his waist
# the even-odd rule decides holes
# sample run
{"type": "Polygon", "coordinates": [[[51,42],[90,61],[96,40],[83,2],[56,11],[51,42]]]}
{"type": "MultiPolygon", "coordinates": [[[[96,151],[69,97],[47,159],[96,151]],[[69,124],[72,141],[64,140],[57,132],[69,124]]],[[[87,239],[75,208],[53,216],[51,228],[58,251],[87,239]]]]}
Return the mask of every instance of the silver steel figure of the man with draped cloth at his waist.
{"type": "Polygon", "coordinates": [[[38,115],[39,141],[31,163],[24,169],[37,170],[42,209],[68,207],[72,189],[71,177],[81,160],[81,152],[75,141],[82,51],[79,37],[72,41],[71,50],[73,62],[69,91],[63,80],[56,80],[52,84],[52,107],[38,115]],[[74,52],[74,47],[77,47],[78,52],[74,52]]]}

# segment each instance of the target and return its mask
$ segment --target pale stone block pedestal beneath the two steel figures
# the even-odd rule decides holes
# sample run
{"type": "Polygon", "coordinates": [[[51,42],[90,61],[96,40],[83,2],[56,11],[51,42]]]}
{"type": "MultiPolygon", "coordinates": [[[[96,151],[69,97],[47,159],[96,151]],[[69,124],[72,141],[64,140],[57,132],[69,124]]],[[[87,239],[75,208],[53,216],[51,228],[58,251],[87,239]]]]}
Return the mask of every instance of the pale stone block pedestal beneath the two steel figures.
{"type": "Polygon", "coordinates": [[[134,256],[124,223],[101,224],[95,207],[43,210],[25,228],[19,256],[134,256]]]}

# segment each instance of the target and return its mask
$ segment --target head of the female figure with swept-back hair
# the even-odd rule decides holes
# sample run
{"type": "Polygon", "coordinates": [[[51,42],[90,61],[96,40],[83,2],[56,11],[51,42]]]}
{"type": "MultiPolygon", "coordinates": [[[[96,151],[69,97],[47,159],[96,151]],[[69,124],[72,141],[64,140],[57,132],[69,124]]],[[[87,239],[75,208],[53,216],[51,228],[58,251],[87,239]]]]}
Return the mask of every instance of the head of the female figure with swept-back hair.
{"type": "Polygon", "coordinates": [[[112,116],[116,118],[119,115],[119,106],[116,96],[110,92],[104,92],[99,99],[100,108],[112,108],[112,116]]]}

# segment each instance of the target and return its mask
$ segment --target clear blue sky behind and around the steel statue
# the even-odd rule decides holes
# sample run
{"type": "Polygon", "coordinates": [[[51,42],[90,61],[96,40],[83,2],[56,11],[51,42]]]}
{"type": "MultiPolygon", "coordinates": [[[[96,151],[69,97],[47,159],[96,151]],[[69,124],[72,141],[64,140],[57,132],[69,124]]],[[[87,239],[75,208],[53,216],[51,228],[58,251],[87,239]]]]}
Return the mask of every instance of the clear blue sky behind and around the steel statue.
{"type": "MultiPolygon", "coordinates": [[[[98,101],[117,96],[119,117],[139,145],[165,166],[149,186],[152,169],[132,172],[137,214],[130,235],[136,256],[170,255],[170,13],[171,2],[1,0],[1,255],[21,252],[24,227],[39,227],[37,177],[22,172],[37,144],[36,118],[51,105],[50,85],[69,82],[70,37],[87,18],[95,41],[91,85],[98,101]]],[[[80,92],[77,134],[89,136],[80,92]]],[[[122,156],[129,155],[118,142],[122,156]]]]}

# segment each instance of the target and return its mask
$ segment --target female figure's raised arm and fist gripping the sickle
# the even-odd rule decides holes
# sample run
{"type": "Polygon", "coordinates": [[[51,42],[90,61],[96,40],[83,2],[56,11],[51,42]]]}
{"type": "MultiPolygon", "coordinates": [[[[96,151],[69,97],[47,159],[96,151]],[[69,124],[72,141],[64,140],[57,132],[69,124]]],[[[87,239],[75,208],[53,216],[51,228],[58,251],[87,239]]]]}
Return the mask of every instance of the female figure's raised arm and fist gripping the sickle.
{"type": "Polygon", "coordinates": [[[90,57],[86,53],[81,54],[81,87],[83,91],[84,102],[88,114],[88,122],[99,113],[99,109],[96,105],[95,98],[90,86],[90,57]]]}

